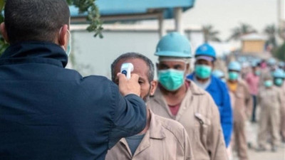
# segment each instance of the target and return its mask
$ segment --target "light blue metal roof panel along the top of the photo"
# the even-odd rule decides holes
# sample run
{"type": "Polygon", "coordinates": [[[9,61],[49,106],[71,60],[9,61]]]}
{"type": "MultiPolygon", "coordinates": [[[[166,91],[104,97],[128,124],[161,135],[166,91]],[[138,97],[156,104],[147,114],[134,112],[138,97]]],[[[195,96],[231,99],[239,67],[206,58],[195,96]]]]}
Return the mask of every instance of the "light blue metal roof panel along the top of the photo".
{"type": "MultiPolygon", "coordinates": [[[[182,7],[184,10],[194,6],[195,0],[98,0],[96,4],[102,16],[120,14],[145,14],[148,9],[167,9],[165,18],[172,18],[170,11],[175,7],[182,7]]],[[[70,7],[71,16],[86,16],[78,14],[78,9],[70,7]]]]}

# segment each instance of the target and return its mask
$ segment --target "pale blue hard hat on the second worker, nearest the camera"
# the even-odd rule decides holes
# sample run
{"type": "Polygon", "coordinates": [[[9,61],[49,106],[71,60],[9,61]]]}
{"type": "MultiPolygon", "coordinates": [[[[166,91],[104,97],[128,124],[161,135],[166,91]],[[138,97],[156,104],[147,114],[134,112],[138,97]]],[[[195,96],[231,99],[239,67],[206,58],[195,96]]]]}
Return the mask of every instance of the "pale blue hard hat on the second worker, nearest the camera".
{"type": "Polygon", "coordinates": [[[157,44],[155,55],[166,57],[192,58],[190,41],[177,32],[163,36],[157,44]]]}

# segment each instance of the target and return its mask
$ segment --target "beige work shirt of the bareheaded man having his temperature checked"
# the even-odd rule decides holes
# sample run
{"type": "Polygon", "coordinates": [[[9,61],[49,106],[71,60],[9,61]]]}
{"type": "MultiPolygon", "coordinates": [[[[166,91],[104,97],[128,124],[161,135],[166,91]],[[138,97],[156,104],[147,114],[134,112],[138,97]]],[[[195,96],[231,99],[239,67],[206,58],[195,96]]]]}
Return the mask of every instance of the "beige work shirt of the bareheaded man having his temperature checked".
{"type": "Polygon", "coordinates": [[[150,128],[132,156],[126,140],[108,151],[106,160],[194,160],[185,128],[178,122],[150,112],[150,128]]]}

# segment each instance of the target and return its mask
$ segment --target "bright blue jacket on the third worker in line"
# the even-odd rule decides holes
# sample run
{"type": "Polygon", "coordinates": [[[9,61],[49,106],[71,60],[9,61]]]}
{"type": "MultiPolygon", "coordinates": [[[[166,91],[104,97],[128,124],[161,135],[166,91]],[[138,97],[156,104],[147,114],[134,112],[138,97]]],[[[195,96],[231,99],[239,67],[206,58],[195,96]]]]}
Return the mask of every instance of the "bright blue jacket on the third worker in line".
{"type": "MultiPolygon", "coordinates": [[[[195,73],[187,75],[187,78],[193,80],[195,73]]],[[[232,136],[232,106],[229,98],[229,90],[227,85],[219,78],[211,75],[211,83],[206,88],[207,92],[212,95],[214,102],[219,107],[219,116],[221,117],[222,130],[224,133],[224,142],[229,146],[232,136]]]]}

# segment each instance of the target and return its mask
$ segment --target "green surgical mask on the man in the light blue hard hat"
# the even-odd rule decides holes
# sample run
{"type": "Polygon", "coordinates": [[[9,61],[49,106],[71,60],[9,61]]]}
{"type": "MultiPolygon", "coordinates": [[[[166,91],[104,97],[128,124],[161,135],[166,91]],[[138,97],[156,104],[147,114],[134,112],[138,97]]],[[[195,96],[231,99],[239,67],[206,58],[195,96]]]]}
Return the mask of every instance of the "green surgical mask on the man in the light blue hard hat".
{"type": "Polygon", "coordinates": [[[184,70],[158,70],[158,81],[166,90],[175,91],[184,84],[184,73],[184,70]]]}

